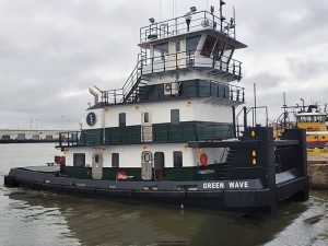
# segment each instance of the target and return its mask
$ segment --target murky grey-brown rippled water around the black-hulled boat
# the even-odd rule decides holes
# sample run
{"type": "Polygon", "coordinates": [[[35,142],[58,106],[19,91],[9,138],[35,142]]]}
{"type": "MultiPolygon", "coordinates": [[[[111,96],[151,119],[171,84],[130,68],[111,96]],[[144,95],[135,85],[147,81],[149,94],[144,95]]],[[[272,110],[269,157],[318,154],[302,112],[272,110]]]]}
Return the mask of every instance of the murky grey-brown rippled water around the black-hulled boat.
{"type": "Polygon", "coordinates": [[[43,165],[51,143],[0,144],[0,245],[328,245],[328,191],[279,206],[277,219],[77,198],[3,187],[13,166],[43,165]]]}

